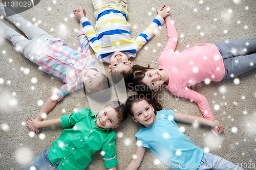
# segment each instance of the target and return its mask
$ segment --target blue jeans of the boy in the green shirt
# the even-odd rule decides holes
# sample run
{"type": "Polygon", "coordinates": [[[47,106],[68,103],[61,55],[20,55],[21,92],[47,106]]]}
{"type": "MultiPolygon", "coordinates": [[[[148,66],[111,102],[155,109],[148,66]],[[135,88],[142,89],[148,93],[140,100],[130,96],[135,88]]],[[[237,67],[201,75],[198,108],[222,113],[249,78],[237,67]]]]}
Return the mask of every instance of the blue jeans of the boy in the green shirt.
{"type": "Polygon", "coordinates": [[[52,164],[48,158],[49,150],[50,149],[41,152],[27,167],[24,168],[24,170],[30,170],[30,168],[36,170],[58,170],[57,167],[60,161],[55,165],[52,164]]]}

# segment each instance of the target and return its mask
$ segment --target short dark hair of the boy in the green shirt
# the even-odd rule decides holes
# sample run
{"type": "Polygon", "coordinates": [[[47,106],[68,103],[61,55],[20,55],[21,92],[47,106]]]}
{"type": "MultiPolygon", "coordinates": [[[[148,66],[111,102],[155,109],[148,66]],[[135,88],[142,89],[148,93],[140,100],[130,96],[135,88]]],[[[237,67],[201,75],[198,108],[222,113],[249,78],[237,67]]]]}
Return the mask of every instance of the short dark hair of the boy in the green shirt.
{"type": "Polygon", "coordinates": [[[113,108],[118,113],[118,116],[117,116],[118,123],[124,122],[124,120],[128,117],[126,108],[123,103],[121,103],[119,101],[113,101],[113,102],[107,104],[105,107],[108,107],[108,106],[113,108]]]}

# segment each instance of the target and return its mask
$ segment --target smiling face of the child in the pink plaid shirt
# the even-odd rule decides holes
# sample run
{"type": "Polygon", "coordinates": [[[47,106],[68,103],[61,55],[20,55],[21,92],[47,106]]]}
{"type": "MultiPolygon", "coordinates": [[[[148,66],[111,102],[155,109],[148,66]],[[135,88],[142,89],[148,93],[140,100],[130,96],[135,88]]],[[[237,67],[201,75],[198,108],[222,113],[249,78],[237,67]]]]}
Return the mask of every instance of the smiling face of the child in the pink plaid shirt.
{"type": "Polygon", "coordinates": [[[99,74],[99,72],[94,69],[83,70],[81,76],[84,85],[89,89],[88,91],[90,91],[92,87],[95,88],[98,83],[104,79],[103,75],[99,74]]]}

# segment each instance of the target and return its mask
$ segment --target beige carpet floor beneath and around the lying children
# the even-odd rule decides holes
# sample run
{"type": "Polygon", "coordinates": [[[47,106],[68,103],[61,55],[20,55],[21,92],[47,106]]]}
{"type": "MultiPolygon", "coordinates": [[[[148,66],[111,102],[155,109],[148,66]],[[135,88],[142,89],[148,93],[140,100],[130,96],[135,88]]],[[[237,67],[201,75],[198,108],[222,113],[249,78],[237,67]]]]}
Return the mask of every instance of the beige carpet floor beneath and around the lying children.
{"type": "MultiPolygon", "coordinates": [[[[131,35],[134,39],[150,25],[158,8],[163,4],[169,6],[179,35],[176,48],[179,52],[204,42],[217,43],[256,36],[254,0],[128,1],[128,21],[132,25],[131,35]]],[[[72,9],[80,5],[86,9],[87,17],[92,25],[95,25],[90,0],[40,1],[38,5],[20,15],[77,49],[79,24],[72,9]]],[[[14,28],[7,20],[1,20],[14,28]]],[[[158,58],[167,42],[166,33],[164,23],[162,29],[138,52],[137,57],[131,59],[132,63],[143,66],[150,63],[152,67],[157,68],[158,58]]],[[[39,135],[31,137],[25,125],[28,118],[39,113],[52,90],[59,88],[63,82],[53,75],[41,72],[37,65],[15,51],[14,46],[3,37],[0,37],[0,56],[0,169],[22,169],[39,153],[50,148],[63,130],[61,127],[42,128],[39,135]]],[[[95,56],[94,58],[96,60],[95,56]]],[[[104,71],[104,68],[106,70],[108,66],[103,64],[103,68],[100,68],[102,64],[98,61],[97,65],[101,71],[104,71]]],[[[225,126],[226,129],[221,135],[215,137],[207,126],[194,127],[179,122],[177,124],[185,129],[184,134],[199,147],[242,165],[244,169],[256,169],[256,69],[246,72],[236,80],[239,84],[234,83],[234,79],[229,79],[194,86],[194,89],[208,100],[215,118],[225,126]]],[[[133,93],[134,91],[127,91],[127,95],[133,93]]],[[[163,96],[164,108],[202,116],[196,103],[177,98],[166,90],[159,94],[163,96]]],[[[122,98],[125,99],[126,96],[123,95],[122,98]]],[[[69,94],[56,105],[46,119],[58,118],[82,108],[97,111],[98,106],[88,100],[81,91],[69,94]]],[[[125,169],[133,159],[136,152],[134,135],[139,127],[140,125],[129,117],[115,129],[118,169],[125,169]]],[[[162,163],[156,163],[157,157],[150,150],[146,150],[139,169],[169,169],[163,167],[162,163]],[[151,166],[153,164],[154,167],[151,166]]],[[[100,152],[95,154],[86,169],[105,169],[100,152]]]]}

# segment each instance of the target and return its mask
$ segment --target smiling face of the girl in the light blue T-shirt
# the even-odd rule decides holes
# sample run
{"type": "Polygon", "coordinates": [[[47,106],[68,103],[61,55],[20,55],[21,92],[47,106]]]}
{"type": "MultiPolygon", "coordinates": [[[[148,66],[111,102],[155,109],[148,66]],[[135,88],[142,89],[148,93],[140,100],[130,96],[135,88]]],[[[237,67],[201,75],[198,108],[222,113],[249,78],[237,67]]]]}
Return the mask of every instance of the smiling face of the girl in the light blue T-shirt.
{"type": "Polygon", "coordinates": [[[146,100],[134,103],[131,111],[134,114],[132,116],[134,121],[141,123],[146,128],[151,127],[156,122],[157,115],[154,113],[155,110],[146,100]]]}

